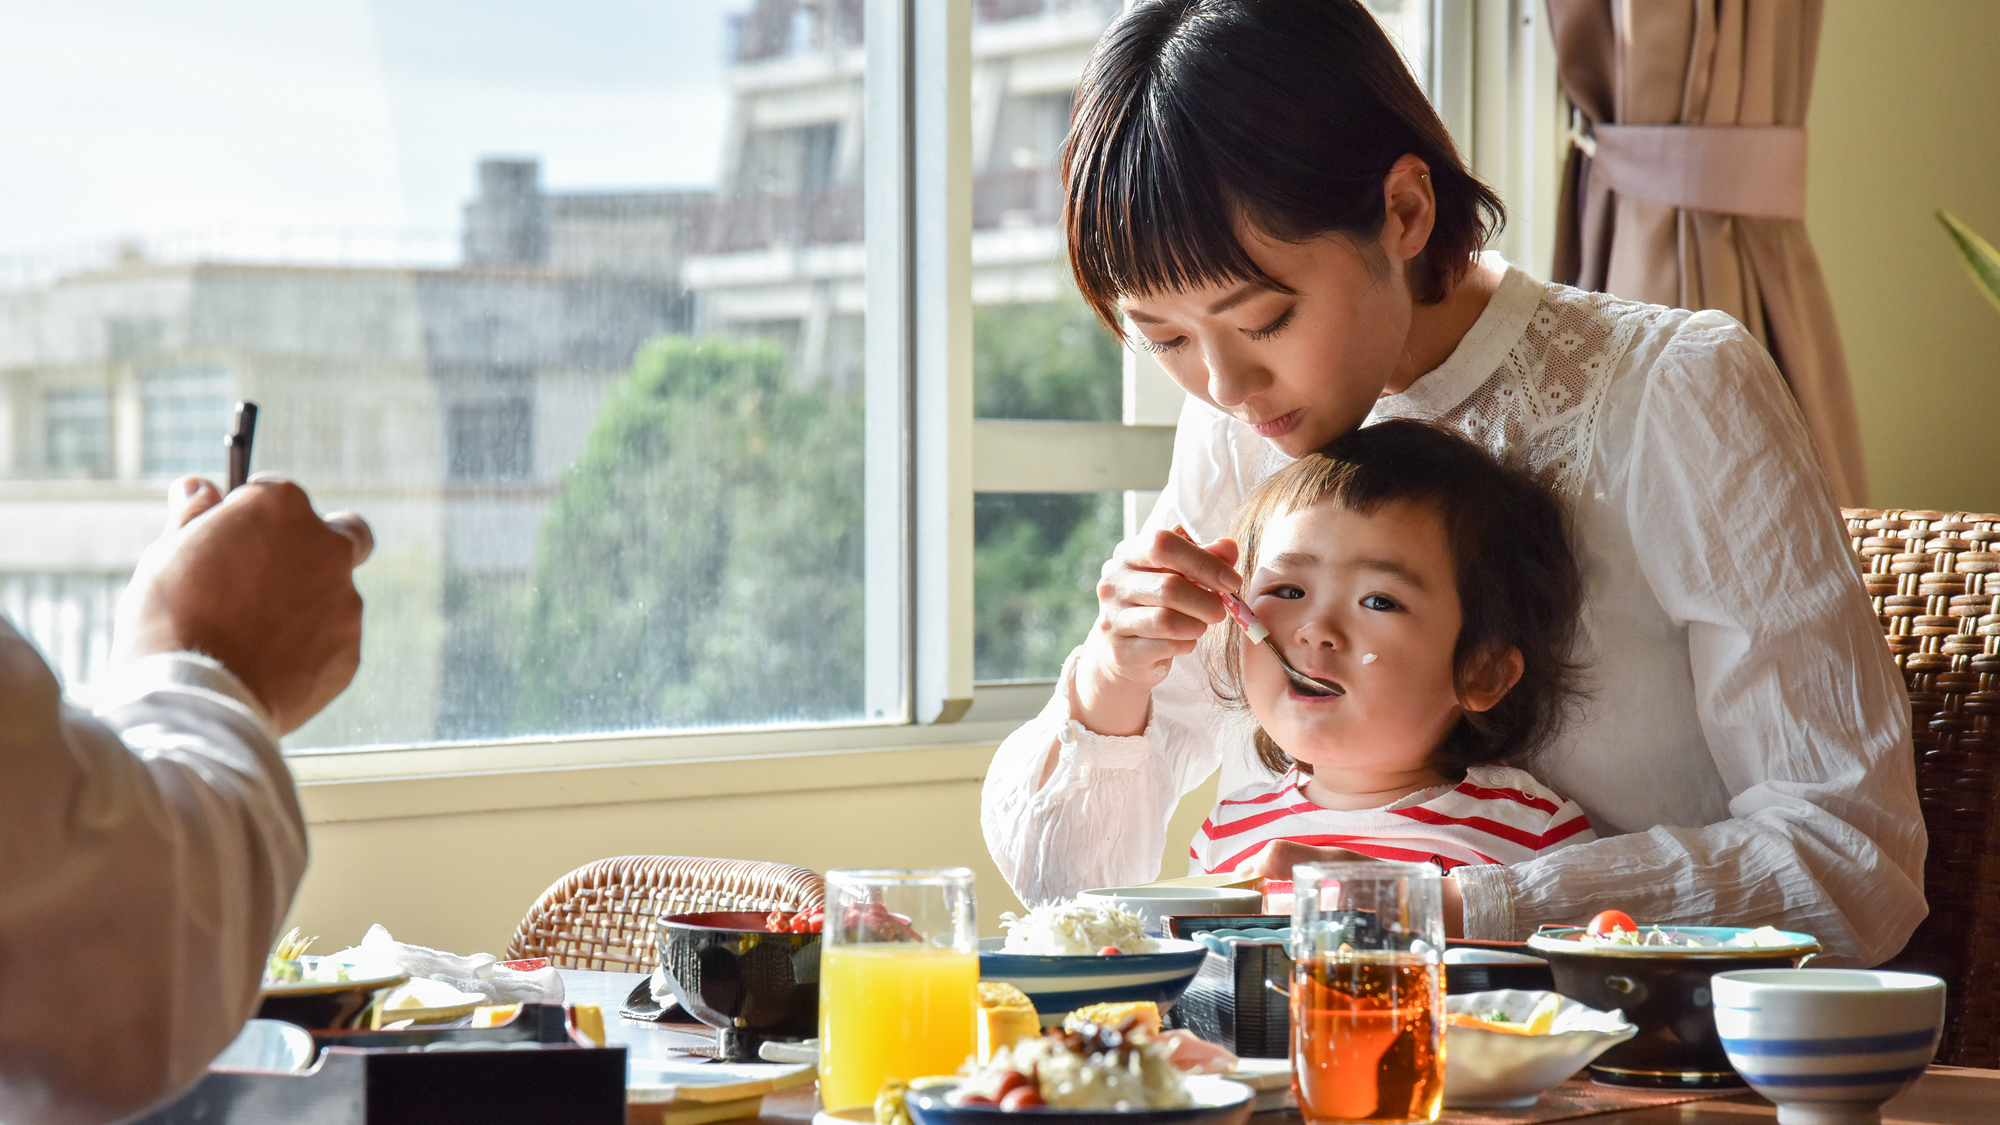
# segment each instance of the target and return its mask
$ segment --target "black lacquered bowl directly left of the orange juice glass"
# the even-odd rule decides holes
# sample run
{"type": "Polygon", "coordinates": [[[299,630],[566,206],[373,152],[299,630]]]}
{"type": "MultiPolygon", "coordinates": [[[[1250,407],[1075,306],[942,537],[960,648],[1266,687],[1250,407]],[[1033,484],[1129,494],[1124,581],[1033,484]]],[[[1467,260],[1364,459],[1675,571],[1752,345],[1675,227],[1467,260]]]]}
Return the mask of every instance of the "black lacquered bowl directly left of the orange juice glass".
{"type": "Polygon", "coordinates": [[[674,999],[716,1029],[720,1053],[756,1059],[764,1039],[820,1033],[820,935],[768,933],[762,913],[660,919],[660,969],[674,999]]]}

